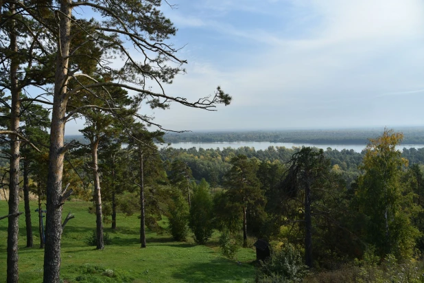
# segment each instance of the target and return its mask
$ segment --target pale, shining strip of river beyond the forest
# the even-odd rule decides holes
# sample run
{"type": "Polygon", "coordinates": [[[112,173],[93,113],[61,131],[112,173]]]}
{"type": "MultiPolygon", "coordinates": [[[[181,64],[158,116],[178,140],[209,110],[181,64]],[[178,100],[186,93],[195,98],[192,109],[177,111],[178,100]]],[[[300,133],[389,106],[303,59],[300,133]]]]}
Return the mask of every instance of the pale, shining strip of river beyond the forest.
{"type": "MultiPolygon", "coordinates": [[[[269,141],[223,141],[223,142],[177,142],[171,145],[173,148],[241,148],[244,146],[248,146],[250,148],[255,148],[255,150],[265,150],[269,146],[285,146],[286,148],[292,147],[301,147],[301,146],[315,146],[316,148],[323,148],[326,150],[327,148],[337,149],[337,150],[355,150],[355,152],[361,152],[366,144],[296,144],[291,142],[269,142],[269,141]]],[[[160,146],[163,147],[163,146],[160,146]]],[[[424,148],[424,144],[401,144],[396,147],[398,150],[402,150],[403,148],[424,148]]]]}

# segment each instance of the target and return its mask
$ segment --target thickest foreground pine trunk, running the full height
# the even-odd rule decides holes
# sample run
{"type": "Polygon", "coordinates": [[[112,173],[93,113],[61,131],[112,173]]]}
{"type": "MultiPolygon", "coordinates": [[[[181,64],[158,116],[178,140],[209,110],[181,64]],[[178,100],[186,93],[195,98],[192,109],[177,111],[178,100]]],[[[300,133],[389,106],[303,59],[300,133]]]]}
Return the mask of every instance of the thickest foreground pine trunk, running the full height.
{"type": "Polygon", "coordinates": [[[71,43],[71,0],[60,1],[58,52],[51,113],[49,174],[47,177],[46,243],[44,283],[60,282],[60,237],[62,236],[62,173],[64,160],[64,117],[67,106],[69,47],[71,43]]]}

